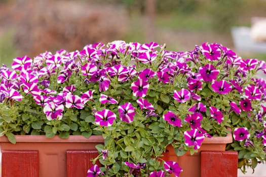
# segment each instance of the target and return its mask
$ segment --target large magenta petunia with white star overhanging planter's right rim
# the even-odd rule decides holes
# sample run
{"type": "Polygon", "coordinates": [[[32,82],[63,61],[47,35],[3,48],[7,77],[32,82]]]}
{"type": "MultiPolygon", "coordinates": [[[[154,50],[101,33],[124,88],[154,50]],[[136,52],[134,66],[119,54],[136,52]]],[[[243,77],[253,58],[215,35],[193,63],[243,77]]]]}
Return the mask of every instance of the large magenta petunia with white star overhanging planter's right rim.
{"type": "Polygon", "coordinates": [[[185,145],[194,146],[195,150],[201,147],[201,144],[204,140],[203,134],[201,134],[198,129],[192,129],[190,131],[185,131],[184,138],[185,138],[185,145]]]}

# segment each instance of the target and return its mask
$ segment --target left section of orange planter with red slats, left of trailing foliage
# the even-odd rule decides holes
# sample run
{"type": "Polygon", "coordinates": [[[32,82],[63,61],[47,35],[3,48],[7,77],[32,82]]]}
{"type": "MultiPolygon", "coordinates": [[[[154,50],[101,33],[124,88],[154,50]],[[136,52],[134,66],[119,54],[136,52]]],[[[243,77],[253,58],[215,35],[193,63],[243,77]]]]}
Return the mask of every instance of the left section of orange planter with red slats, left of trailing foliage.
{"type": "Polygon", "coordinates": [[[98,156],[95,146],[104,142],[102,136],[16,136],[11,144],[0,137],[2,177],[77,177],[86,176],[92,166],[90,159],[98,156]]]}

